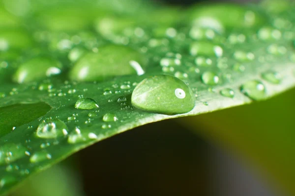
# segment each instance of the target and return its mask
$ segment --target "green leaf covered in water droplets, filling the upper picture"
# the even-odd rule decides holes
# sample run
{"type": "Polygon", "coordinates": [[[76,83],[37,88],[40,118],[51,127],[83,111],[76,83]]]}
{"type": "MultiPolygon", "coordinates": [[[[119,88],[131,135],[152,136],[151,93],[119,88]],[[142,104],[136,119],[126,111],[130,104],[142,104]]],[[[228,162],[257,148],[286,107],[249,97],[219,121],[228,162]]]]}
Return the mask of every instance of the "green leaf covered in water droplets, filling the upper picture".
{"type": "Polygon", "coordinates": [[[0,4],[6,9],[0,14],[6,22],[0,30],[0,194],[133,127],[271,98],[295,86],[291,1],[181,11],[139,0],[9,2],[0,4]],[[188,86],[175,91],[180,98],[191,89],[191,111],[179,114],[190,105],[179,102],[187,106],[180,110],[171,97],[179,88],[174,79],[141,86],[147,96],[153,92],[145,97],[152,109],[131,104],[135,87],[161,74],[188,86]]]}

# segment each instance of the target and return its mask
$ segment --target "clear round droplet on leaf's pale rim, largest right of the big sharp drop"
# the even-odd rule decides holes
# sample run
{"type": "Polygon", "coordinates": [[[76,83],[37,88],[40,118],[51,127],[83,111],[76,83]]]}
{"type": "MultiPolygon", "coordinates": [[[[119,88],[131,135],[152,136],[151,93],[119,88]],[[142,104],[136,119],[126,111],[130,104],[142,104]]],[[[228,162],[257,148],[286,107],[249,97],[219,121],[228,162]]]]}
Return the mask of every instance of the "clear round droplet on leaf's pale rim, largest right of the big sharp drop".
{"type": "Polygon", "coordinates": [[[244,83],[241,92],[253,100],[261,100],[266,98],[265,85],[258,80],[251,80],[244,83]]]}

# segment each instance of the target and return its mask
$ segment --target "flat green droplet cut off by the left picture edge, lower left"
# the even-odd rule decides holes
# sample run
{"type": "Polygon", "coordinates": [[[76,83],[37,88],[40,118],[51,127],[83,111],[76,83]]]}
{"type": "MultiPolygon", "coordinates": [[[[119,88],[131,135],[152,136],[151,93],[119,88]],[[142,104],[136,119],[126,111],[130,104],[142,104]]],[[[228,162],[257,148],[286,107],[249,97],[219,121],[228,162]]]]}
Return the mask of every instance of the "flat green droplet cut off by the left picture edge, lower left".
{"type": "Polygon", "coordinates": [[[27,148],[18,144],[5,144],[0,147],[0,165],[18,160],[28,154],[27,148]]]}

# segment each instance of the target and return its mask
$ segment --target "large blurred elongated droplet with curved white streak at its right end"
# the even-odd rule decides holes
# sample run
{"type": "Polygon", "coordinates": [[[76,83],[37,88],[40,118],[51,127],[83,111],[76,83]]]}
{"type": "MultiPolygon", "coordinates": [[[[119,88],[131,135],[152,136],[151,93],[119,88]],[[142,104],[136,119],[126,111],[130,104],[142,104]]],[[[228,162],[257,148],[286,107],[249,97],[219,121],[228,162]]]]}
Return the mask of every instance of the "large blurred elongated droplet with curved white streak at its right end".
{"type": "Polygon", "coordinates": [[[107,45],[97,53],[87,53],[81,57],[70,71],[69,77],[78,81],[100,81],[118,75],[145,73],[143,54],[117,45],[107,45]]]}

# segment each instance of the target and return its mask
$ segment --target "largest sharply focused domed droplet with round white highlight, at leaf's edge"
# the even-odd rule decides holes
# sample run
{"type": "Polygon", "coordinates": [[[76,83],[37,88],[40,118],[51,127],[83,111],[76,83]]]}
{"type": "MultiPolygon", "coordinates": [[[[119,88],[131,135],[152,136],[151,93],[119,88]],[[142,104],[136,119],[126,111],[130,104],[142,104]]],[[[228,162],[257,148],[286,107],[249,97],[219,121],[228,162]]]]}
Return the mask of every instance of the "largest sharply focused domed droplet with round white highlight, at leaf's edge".
{"type": "Polygon", "coordinates": [[[195,106],[191,89],[171,75],[144,79],[134,89],[131,102],[139,109],[168,115],[186,113],[195,106]]]}

